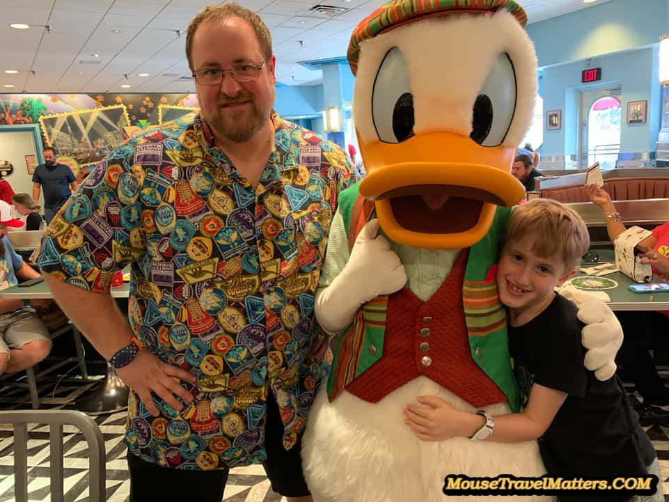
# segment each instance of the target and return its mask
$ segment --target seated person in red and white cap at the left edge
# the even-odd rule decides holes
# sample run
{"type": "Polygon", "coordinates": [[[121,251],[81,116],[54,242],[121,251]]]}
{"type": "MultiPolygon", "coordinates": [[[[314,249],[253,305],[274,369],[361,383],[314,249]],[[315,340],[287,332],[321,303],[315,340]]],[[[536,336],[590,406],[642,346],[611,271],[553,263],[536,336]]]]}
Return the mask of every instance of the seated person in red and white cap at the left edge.
{"type": "MultiPolygon", "coordinates": [[[[0,290],[17,285],[18,279],[37,279],[40,274],[24,262],[7,239],[8,228],[23,221],[12,217],[12,207],[0,201],[0,290]]],[[[0,375],[31,368],[51,352],[49,330],[35,313],[35,307],[51,300],[0,299],[0,375]]]]}

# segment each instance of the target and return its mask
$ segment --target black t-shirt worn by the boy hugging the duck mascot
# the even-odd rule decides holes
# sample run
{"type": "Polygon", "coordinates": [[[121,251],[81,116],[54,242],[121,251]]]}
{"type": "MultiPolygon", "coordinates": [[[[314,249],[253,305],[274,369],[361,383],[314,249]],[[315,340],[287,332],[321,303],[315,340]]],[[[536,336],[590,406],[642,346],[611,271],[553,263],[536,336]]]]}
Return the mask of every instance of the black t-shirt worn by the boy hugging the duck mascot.
{"type": "MultiPolygon", "coordinates": [[[[645,476],[655,450],[640,428],[620,378],[615,375],[600,382],[583,366],[583,324],[576,311],[574,304],[558,294],[533,320],[509,329],[523,403],[533,384],[568,394],[539,441],[546,471],[563,478],[645,476]]],[[[629,498],[608,493],[599,500],[629,498]]],[[[597,499],[588,492],[589,501],[597,499]]],[[[583,493],[560,495],[560,500],[583,500],[583,493]]]]}

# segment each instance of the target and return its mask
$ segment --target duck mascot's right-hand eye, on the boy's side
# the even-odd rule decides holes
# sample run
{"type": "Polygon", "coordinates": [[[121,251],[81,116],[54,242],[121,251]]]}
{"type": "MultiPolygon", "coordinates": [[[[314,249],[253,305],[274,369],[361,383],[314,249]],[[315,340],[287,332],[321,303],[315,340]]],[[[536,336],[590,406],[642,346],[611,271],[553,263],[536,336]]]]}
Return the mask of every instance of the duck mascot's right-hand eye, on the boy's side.
{"type": "Polygon", "coordinates": [[[471,134],[482,146],[499,146],[516,110],[516,74],[507,54],[499,54],[474,102],[471,134]]]}

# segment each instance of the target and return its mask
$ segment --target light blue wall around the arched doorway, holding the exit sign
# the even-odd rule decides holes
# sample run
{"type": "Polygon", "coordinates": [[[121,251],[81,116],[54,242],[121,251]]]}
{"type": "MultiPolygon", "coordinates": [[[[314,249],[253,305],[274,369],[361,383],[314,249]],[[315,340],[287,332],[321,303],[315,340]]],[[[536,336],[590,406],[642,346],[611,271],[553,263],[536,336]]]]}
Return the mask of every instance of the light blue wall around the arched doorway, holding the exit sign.
{"type": "MultiPolygon", "coordinates": [[[[585,63],[544,68],[542,91],[544,117],[549,110],[562,110],[562,129],[544,129],[544,155],[572,155],[576,153],[576,135],[579,131],[579,92],[602,86],[621,87],[622,120],[621,152],[648,152],[655,150],[660,125],[660,85],[657,74],[657,47],[622,52],[592,58],[590,68],[601,67],[602,80],[597,84],[581,84],[581,70],[585,63]],[[647,119],[643,124],[627,124],[627,102],[647,100],[647,119]]],[[[545,127],[545,124],[544,124],[545,127]]]]}

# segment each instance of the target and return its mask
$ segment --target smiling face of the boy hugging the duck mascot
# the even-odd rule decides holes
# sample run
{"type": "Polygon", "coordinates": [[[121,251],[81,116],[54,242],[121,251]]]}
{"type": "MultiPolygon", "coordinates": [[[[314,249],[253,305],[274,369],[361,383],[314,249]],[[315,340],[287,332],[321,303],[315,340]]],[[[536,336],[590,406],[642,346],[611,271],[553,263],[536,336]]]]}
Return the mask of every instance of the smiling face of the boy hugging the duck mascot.
{"type": "Polygon", "coordinates": [[[526,324],[544,311],[555,297],[556,285],[562,285],[574,271],[558,254],[540,257],[533,251],[535,239],[524,237],[507,244],[497,266],[500,301],[510,308],[512,326],[526,324]]]}

